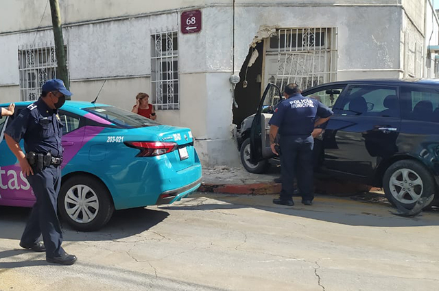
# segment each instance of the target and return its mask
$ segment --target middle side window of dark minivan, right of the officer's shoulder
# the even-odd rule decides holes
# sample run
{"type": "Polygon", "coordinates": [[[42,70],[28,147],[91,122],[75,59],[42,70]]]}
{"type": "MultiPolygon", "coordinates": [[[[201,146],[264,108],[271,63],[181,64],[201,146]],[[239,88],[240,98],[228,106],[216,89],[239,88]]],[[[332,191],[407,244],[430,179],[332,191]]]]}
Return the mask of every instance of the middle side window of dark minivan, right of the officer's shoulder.
{"type": "Polygon", "coordinates": [[[351,85],[339,104],[335,109],[342,115],[400,116],[398,90],[391,86],[351,85]]]}

